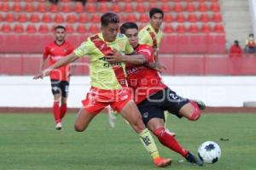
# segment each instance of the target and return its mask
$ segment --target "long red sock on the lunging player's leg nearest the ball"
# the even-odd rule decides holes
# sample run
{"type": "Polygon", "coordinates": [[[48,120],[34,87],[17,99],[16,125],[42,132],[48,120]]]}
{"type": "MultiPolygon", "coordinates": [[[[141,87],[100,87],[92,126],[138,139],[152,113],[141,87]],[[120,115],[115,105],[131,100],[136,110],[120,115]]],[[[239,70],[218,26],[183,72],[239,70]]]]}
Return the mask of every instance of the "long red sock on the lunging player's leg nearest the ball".
{"type": "Polygon", "coordinates": [[[165,127],[160,127],[154,130],[155,136],[159,139],[160,143],[165,145],[167,148],[170,148],[173,151],[176,151],[182,156],[188,155],[188,150],[184,150],[177,140],[168,133],[168,130],[165,127]]]}

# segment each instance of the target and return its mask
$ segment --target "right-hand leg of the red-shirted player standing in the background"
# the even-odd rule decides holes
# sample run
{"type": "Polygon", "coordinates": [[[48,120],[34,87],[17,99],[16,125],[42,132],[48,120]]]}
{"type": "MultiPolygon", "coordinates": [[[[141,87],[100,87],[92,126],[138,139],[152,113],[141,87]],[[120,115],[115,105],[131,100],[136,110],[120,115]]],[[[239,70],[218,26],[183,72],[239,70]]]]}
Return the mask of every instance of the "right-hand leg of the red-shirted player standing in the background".
{"type": "Polygon", "coordinates": [[[67,96],[68,96],[68,88],[69,88],[69,82],[67,81],[61,81],[61,119],[66,115],[67,113],[67,96]]]}

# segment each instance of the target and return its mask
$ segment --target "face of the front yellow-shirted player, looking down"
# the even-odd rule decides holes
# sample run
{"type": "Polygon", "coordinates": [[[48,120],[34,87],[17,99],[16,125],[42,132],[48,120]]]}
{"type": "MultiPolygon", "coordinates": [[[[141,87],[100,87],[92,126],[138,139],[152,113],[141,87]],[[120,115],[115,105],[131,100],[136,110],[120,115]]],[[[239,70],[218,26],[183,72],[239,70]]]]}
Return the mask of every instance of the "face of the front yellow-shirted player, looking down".
{"type": "Polygon", "coordinates": [[[109,23],[108,26],[102,26],[104,40],[113,42],[119,32],[119,24],[109,23]]]}

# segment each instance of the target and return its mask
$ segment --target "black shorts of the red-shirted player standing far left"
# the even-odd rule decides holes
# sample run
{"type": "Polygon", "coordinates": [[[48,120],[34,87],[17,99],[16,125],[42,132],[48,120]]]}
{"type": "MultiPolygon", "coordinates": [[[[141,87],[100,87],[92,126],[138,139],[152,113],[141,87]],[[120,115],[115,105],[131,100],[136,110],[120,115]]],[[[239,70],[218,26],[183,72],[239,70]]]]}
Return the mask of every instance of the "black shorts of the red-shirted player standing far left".
{"type": "Polygon", "coordinates": [[[61,94],[62,97],[67,98],[69,82],[61,80],[50,80],[52,94],[61,94]]]}

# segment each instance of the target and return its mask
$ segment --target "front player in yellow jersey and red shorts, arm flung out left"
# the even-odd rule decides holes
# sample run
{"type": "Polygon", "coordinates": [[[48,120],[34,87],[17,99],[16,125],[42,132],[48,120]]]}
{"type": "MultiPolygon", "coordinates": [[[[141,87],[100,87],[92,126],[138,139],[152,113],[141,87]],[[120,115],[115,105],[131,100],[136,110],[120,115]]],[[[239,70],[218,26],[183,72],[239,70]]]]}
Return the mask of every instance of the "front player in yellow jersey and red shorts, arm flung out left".
{"type": "Polygon", "coordinates": [[[89,55],[91,88],[82,101],[84,107],[80,109],[76,118],[75,130],[84,131],[97,113],[111,105],[113,110],[119,111],[139,134],[144,147],[152,156],[155,166],[166,167],[172,160],[160,157],[154,139],[143,124],[142,116],[131,97],[131,91],[127,88],[125,79],[125,62],[139,65],[146,62],[146,59],[143,55],[125,55],[133,54],[133,48],[125,35],[118,34],[119,16],[117,14],[103,14],[101,25],[101,33],[89,37],[72,54],[49,66],[34,79],[43,78],[49,75],[49,71],[61,65],[67,65],[84,55],[89,55]],[[107,59],[111,55],[121,57],[123,62],[110,64],[107,59]]]}

